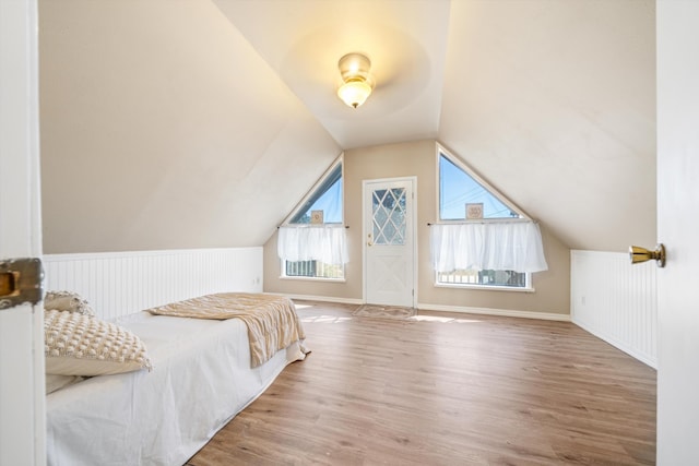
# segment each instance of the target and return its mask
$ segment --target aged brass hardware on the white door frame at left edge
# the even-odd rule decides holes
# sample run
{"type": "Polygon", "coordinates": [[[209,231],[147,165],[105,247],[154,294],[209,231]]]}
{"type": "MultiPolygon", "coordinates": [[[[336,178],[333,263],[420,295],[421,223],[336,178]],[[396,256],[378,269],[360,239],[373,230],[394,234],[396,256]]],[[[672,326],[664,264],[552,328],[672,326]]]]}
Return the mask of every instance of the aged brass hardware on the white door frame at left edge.
{"type": "Polygon", "coordinates": [[[0,261],[0,309],[42,300],[42,261],[37,258],[0,261]]]}

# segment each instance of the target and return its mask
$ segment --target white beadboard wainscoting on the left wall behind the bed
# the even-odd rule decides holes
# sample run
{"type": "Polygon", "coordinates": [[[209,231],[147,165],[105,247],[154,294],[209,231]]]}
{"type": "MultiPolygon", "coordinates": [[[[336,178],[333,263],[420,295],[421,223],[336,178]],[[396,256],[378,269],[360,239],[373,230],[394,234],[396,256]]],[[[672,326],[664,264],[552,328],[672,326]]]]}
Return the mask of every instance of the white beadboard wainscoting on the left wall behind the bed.
{"type": "Polygon", "coordinates": [[[46,290],[83,296],[103,319],[223,291],[262,291],[262,248],[44,255],[46,290]]]}

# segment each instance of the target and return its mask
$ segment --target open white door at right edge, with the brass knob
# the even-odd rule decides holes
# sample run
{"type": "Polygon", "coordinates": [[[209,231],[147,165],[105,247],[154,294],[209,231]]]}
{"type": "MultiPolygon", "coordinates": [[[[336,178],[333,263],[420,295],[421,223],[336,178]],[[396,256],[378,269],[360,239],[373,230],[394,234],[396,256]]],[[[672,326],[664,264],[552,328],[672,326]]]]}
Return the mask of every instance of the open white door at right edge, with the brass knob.
{"type": "Polygon", "coordinates": [[[657,464],[699,464],[699,2],[656,2],[657,464]]]}

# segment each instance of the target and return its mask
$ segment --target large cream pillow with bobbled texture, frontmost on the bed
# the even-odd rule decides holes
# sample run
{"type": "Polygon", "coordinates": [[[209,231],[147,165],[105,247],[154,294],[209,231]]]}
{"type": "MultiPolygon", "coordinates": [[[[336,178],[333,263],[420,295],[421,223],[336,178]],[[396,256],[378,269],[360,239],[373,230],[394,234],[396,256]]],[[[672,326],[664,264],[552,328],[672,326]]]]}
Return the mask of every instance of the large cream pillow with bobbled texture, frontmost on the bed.
{"type": "Polygon", "coordinates": [[[104,375],[153,368],[137,335],[97,318],[44,311],[46,373],[104,375]]]}

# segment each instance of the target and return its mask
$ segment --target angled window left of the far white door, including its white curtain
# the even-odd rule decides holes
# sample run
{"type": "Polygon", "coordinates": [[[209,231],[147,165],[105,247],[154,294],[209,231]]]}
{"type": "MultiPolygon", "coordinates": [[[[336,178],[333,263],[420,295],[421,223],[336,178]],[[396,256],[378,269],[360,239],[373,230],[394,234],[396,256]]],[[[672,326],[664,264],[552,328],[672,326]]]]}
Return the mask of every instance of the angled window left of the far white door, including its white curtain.
{"type": "MultiPolygon", "coordinates": [[[[282,259],[282,275],[295,278],[344,279],[344,263],[337,259],[337,250],[344,249],[343,228],[343,177],[342,157],[337,158],[319,182],[311,189],[306,199],[289,216],[285,228],[297,227],[293,235],[280,235],[280,241],[291,241],[291,244],[280,249],[294,249],[296,256],[313,259],[285,260],[282,259]],[[320,213],[320,215],[318,215],[320,213]],[[315,220],[311,218],[316,215],[315,220]],[[337,230],[333,230],[337,228],[337,230]],[[342,230],[339,230],[342,228],[342,230]],[[312,230],[311,230],[312,229],[312,230]],[[283,239],[283,237],[285,239],[283,239]],[[334,252],[328,256],[325,251],[317,254],[309,251],[315,246],[323,246],[324,250],[334,252]],[[322,259],[319,259],[322,258],[322,259]]],[[[280,254],[281,256],[289,256],[280,254]]]]}

